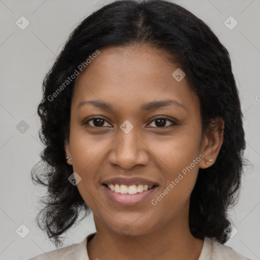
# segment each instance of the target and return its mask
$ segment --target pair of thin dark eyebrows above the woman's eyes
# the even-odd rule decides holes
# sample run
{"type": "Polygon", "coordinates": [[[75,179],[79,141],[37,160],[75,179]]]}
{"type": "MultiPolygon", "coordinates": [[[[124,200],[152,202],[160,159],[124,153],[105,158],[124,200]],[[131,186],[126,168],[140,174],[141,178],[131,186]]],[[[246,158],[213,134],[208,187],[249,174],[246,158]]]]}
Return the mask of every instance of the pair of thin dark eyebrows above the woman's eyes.
{"type": "MultiPolygon", "coordinates": [[[[84,101],[81,101],[78,105],[77,105],[77,109],[79,109],[80,107],[86,105],[86,104],[91,104],[95,107],[99,107],[99,108],[103,108],[105,110],[110,110],[112,111],[113,110],[113,106],[109,103],[106,103],[104,101],[99,101],[99,100],[84,100],[84,101]]],[[[187,108],[177,102],[176,100],[162,100],[162,101],[152,101],[152,102],[148,102],[148,103],[145,103],[141,106],[141,110],[144,111],[144,110],[152,110],[152,109],[156,109],[156,108],[160,108],[160,107],[166,107],[166,106],[170,106],[170,105],[174,105],[176,107],[180,107],[180,108],[183,108],[187,111],[187,108]]]]}

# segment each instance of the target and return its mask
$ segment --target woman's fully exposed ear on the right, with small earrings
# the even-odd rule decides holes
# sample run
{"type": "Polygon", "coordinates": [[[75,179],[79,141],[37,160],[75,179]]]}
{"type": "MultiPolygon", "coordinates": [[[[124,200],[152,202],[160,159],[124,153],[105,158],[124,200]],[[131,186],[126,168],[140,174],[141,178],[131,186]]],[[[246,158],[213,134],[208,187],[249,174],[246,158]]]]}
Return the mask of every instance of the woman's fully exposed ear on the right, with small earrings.
{"type": "Polygon", "coordinates": [[[203,136],[201,152],[205,157],[200,162],[201,169],[208,168],[215,163],[223,143],[223,136],[224,120],[216,117],[211,121],[210,126],[203,136]]]}

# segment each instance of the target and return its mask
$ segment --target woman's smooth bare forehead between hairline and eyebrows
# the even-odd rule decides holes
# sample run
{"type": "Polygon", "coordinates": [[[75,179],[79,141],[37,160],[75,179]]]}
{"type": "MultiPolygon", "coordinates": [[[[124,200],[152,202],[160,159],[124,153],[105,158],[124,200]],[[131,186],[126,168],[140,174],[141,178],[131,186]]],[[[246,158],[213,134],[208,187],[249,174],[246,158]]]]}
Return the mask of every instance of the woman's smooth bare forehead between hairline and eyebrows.
{"type": "Polygon", "coordinates": [[[180,67],[167,59],[166,52],[146,45],[102,49],[78,76],[72,106],[94,99],[125,109],[174,99],[191,110],[198,109],[198,98],[185,77],[178,82],[172,76],[180,67]]]}

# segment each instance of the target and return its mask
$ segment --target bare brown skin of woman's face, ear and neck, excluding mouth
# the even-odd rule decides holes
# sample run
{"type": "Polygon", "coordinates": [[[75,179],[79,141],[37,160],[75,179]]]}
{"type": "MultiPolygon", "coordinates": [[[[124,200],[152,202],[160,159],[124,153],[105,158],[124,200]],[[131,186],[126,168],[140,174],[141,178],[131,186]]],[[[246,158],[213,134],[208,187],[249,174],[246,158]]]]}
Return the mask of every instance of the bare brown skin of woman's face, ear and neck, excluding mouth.
{"type": "Polygon", "coordinates": [[[180,65],[169,63],[165,54],[145,45],[109,47],[76,80],[70,142],[66,140],[64,148],[72,158],[68,164],[81,177],[79,192],[94,216],[97,234],[87,245],[90,260],[195,260],[200,256],[203,240],[189,231],[189,197],[199,168],[214,164],[223,131],[202,136],[199,100],[185,77],[180,82],[172,77],[180,65]],[[170,104],[140,110],[144,103],[167,99],[185,109],[170,104]],[[85,100],[104,101],[114,109],[90,104],[77,109],[85,100]],[[95,120],[87,124],[91,116],[105,121],[101,126],[95,120]],[[169,120],[156,123],[156,116],[167,116],[177,125],[169,120]],[[133,125],[128,134],[120,128],[125,120],[133,125]],[[151,200],[201,153],[205,157],[164,199],[152,205],[151,200]],[[138,205],[122,206],[109,199],[101,184],[107,178],[125,176],[143,177],[158,187],[138,205]],[[122,234],[126,227],[131,230],[128,236],[122,234]]]}

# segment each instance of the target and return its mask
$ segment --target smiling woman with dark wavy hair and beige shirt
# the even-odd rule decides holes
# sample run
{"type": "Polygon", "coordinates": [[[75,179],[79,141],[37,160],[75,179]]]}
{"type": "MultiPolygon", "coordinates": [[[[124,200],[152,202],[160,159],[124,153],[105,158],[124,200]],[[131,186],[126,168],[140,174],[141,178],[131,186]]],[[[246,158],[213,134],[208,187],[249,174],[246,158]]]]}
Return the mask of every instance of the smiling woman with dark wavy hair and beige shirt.
{"type": "Polygon", "coordinates": [[[166,1],[118,1],[73,31],[43,84],[38,224],[96,233],[36,259],[248,259],[223,245],[245,149],[228,51],[166,1]],[[84,216],[84,217],[85,217],[84,216]]]}

